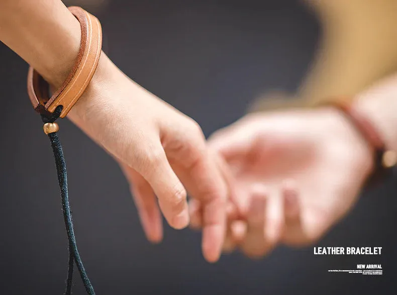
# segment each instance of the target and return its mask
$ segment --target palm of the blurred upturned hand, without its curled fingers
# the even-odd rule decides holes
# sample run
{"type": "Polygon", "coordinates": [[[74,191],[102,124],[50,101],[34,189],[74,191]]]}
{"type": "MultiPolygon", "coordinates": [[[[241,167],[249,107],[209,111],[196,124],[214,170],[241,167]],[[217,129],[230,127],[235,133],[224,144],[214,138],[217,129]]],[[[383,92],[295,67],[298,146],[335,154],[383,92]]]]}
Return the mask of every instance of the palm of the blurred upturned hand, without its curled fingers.
{"type": "Polygon", "coordinates": [[[338,116],[254,115],[215,135],[216,146],[228,134],[244,134],[237,144],[225,139],[220,148],[240,203],[250,202],[250,188],[257,184],[267,187],[273,200],[280,199],[286,179],[296,184],[299,218],[284,220],[280,239],[286,244],[320,238],[352,207],[369,171],[370,165],[361,161],[367,156],[361,138],[354,141],[355,130],[338,116]]]}

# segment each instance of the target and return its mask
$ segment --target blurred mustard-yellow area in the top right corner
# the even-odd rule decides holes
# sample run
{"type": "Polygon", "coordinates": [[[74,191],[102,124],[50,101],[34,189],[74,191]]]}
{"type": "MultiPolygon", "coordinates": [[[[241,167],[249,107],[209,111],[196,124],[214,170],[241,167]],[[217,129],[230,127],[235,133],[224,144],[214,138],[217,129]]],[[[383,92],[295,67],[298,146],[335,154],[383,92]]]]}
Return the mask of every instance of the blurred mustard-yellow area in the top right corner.
{"type": "Polygon", "coordinates": [[[315,62],[299,96],[353,97],[397,69],[395,0],[306,0],[322,24],[315,62]]]}

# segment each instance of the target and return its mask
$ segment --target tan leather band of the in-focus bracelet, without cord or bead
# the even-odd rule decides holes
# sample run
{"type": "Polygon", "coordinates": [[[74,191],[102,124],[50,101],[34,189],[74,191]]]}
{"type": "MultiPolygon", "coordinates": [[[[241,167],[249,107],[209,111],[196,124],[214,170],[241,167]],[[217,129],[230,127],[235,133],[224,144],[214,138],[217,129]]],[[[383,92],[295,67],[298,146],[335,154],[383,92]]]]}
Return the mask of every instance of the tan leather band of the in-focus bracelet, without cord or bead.
{"type": "Polygon", "coordinates": [[[77,102],[94,75],[102,51],[101,23],[80,7],[69,7],[80,22],[81,44],[76,61],[62,86],[49,97],[49,85],[33,68],[28,72],[28,94],[39,113],[52,113],[62,105],[60,117],[64,118],[77,102]]]}

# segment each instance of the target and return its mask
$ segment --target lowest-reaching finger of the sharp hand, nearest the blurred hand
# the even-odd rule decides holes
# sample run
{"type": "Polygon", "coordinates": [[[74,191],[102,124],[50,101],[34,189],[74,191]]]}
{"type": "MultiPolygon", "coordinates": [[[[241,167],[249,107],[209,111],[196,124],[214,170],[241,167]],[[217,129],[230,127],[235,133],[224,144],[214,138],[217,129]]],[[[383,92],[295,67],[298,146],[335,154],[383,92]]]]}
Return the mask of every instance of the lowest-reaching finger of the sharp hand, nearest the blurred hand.
{"type": "Polygon", "coordinates": [[[226,232],[228,188],[216,160],[208,151],[201,129],[197,125],[189,128],[188,135],[184,131],[174,136],[184,136],[182,143],[168,142],[165,149],[173,159],[172,168],[189,194],[201,202],[203,254],[207,261],[215,262],[220,257],[226,232]]]}

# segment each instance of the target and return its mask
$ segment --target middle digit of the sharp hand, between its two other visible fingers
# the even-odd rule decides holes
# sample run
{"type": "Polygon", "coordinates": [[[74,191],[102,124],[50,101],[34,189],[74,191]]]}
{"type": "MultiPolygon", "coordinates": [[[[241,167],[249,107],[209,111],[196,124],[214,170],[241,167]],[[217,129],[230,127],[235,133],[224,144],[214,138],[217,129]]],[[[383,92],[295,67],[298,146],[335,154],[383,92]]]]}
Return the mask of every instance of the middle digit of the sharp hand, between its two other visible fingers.
{"type": "MultiPolygon", "coordinates": [[[[139,151],[137,151],[139,153],[139,151]]],[[[168,224],[183,229],[189,224],[186,191],[172,170],[160,142],[150,152],[137,156],[139,172],[158,197],[158,203],[168,224]]]]}

